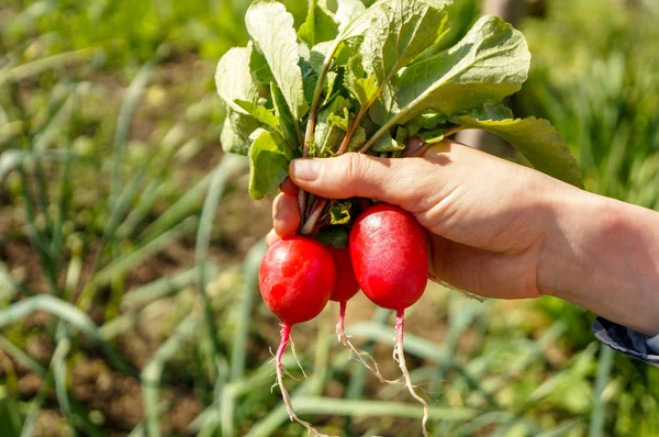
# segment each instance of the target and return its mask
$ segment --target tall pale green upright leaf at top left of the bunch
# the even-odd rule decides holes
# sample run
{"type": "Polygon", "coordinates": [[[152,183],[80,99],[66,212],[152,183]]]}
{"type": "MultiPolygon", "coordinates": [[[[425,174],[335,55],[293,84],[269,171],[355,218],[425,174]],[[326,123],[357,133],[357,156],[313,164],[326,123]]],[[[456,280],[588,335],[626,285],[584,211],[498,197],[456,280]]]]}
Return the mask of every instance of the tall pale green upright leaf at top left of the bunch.
{"type": "Polygon", "coordinates": [[[293,15],[279,2],[257,0],[247,9],[245,24],[268,61],[293,117],[300,120],[309,105],[304,99],[302,71],[298,66],[300,55],[293,15]]]}

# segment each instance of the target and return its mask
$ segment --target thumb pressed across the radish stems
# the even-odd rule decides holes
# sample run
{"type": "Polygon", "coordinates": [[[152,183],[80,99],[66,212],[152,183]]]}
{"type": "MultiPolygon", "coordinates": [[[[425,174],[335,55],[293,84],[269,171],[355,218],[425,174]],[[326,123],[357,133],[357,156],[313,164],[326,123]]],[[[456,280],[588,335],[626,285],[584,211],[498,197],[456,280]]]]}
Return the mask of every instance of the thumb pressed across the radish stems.
{"type": "MultiPolygon", "coordinates": [[[[348,153],[335,158],[301,158],[289,167],[298,187],[328,199],[353,197],[405,203],[417,181],[412,177],[418,163],[415,158],[392,159],[348,153]]],[[[418,195],[418,191],[416,191],[418,195]]]]}

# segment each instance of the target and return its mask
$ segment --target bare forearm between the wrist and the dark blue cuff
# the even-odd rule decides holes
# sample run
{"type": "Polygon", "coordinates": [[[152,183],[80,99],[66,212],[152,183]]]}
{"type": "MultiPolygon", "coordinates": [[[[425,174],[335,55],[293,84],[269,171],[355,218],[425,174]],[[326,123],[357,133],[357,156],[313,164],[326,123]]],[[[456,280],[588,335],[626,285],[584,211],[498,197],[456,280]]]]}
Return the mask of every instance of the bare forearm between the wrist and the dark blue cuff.
{"type": "Polygon", "coordinates": [[[556,208],[538,260],[545,294],[659,334],[659,213],[587,192],[556,208]]]}

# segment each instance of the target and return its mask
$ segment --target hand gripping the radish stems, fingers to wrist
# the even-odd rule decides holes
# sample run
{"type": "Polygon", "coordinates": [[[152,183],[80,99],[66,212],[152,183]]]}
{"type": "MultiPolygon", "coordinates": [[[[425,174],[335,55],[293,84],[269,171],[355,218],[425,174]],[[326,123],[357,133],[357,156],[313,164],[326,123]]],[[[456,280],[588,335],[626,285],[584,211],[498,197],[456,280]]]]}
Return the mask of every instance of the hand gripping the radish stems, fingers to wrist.
{"type": "Polygon", "coordinates": [[[270,244],[300,224],[294,184],[331,199],[372,198],[400,205],[426,227],[432,276],[504,299],[540,295],[538,261],[552,227],[551,202],[579,191],[455,142],[420,158],[297,159],[290,177],[273,203],[270,244]]]}

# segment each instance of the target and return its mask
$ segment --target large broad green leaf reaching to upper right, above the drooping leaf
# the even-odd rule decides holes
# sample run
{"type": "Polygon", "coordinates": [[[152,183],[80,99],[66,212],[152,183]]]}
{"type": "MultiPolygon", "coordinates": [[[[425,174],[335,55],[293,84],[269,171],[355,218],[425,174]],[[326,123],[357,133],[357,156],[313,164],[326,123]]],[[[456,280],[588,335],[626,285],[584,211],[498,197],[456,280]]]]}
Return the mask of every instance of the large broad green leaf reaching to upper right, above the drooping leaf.
{"type": "Polygon", "coordinates": [[[370,114],[383,125],[380,134],[427,110],[453,116],[518,91],[529,64],[522,33],[499,18],[483,16],[456,46],[394,78],[370,114]]]}

